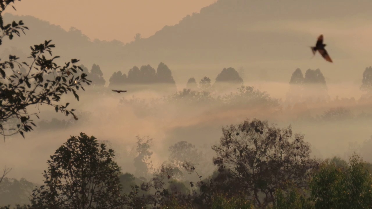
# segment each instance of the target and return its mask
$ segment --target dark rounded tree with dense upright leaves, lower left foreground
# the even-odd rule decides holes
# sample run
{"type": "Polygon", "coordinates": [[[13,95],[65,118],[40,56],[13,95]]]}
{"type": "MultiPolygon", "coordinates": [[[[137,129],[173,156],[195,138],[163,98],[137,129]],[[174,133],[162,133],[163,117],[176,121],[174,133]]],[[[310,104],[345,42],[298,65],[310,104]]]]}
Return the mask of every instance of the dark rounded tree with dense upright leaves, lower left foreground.
{"type": "Polygon", "coordinates": [[[94,136],[71,136],[47,161],[45,185],[34,190],[32,205],[40,209],[121,208],[120,167],[114,156],[94,136]]]}

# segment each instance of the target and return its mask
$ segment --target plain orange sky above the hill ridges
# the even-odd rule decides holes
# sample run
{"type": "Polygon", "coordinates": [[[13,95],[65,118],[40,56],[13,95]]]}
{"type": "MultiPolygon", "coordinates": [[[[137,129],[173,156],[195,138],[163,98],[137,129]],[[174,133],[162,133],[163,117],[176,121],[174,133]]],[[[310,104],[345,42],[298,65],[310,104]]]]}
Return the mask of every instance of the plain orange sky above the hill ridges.
{"type": "Polygon", "coordinates": [[[80,29],[91,39],[124,43],[153,35],[165,25],[177,24],[186,15],[199,12],[216,0],[22,0],[16,15],[32,15],[68,30],[80,29]],[[107,2],[103,4],[102,2],[107,2]]]}

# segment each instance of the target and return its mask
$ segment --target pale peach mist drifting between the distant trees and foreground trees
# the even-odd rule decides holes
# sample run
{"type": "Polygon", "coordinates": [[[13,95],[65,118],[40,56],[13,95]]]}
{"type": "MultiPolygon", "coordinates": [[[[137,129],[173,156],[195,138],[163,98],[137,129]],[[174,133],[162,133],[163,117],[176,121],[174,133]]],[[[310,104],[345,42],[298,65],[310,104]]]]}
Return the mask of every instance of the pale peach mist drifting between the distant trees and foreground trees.
{"type": "MultiPolygon", "coordinates": [[[[78,120],[55,113],[51,107],[39,106],[40,120],[35,118],[35,131],[26,133],[25,139],[15,135],[1,142],[0,166],[12,168],[9,178],[24,177],[40,184],[49,155],[70,136],[83,132],[114,149],[123,173],[135,173],[136,136],[148,136],[153,138],[150,149],[155,168],[168,160],[171,145],[186,141],[203,153],[202,170],[211,174],[215,169],[211,146],[218,143],[222,126],[247,118],[268,120],[281,128],[292,125],[294,132],[305,134],[316,157],[337,155],[346,159],[357,151],[364,160],[372,161],[367,144],[358,147],[372,135],[372,100],[361,99],[359,86],[328,84],[325,100],[309,99],[308,95],[318,92],[316,88],[307,89],[301,91],[296,102],[288,101],[289,89],[289,84],[258,81],[230,93],[179,89],[176,94],[167,95],[165,91],[150,89],[119,94],[106,87],[87,87],[78,92],[79,102],[74,101],[73,95],[61,101],[69,101],[70,107],[77,109],[78,120]]],[[[38,112],[38,108],[29,111],[38,112]]]]}

